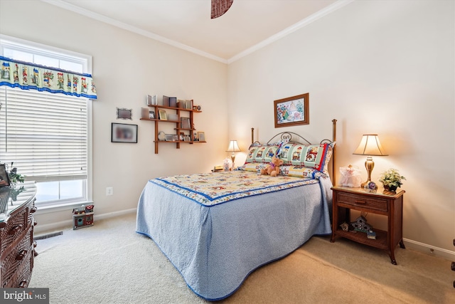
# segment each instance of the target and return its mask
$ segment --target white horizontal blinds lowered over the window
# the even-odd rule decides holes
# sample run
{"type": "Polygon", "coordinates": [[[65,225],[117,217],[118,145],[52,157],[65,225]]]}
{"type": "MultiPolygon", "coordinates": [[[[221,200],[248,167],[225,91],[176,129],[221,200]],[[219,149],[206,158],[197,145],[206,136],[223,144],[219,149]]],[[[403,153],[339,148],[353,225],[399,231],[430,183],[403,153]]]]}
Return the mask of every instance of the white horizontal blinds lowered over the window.
{"type": "Polygon", "coordinates": [[[0,162],[36,182],[87,179],[87,99],[2,86],[0,104],[0,162]]]}

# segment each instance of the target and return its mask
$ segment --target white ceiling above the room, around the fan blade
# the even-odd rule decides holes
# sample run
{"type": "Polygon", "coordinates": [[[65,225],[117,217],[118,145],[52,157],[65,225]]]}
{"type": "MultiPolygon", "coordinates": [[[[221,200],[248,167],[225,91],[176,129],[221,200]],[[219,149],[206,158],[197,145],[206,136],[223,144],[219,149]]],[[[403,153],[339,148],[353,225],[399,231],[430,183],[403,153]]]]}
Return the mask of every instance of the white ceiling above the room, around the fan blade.
{"type": "Polygon", "coordinates": [[[229,63],[352,0],[234,0],[210,19],[210,0],[42,0],[229,63]]]}

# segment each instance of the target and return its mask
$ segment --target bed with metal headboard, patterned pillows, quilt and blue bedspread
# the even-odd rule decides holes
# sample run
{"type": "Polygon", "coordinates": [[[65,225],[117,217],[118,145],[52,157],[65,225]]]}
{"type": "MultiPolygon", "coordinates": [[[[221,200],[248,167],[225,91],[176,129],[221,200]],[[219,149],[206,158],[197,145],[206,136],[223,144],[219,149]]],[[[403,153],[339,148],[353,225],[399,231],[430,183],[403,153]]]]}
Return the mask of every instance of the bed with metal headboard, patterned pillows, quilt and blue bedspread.
{"type": "Polygon", "coordinates": [[[136,231],[153,239],[201,298],[227,298],[256,268],[331,234],[336,120],[332,140],[311,145],[294,135],[264,145],[252,139],[247,161],[230,172],[146,183],[136,231]],[[277,153],[284,159],[279,176],[261,175],[277,153]]]}

